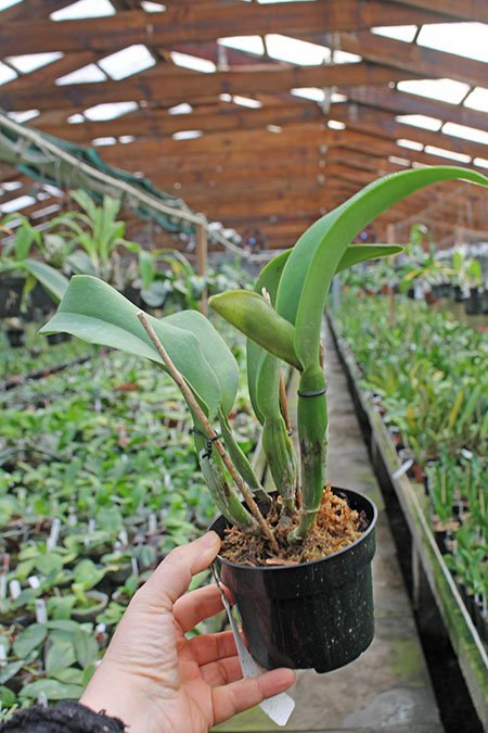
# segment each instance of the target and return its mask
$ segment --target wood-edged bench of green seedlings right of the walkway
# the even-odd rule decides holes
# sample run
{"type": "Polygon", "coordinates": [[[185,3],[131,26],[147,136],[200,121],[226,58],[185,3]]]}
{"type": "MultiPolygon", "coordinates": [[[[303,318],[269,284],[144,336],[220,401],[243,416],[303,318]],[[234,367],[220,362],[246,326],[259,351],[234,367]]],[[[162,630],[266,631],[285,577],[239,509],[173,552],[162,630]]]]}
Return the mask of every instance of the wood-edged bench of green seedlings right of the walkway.
{"type": "MultiPolygon", "coordinates": [[[[488,340],[399,299],[330,317],[373,464],[388,473],[481,720],[488,710],[488,340]]],[[[413,567],[415,577],[415,567],[413,567]]],[[[414,589],[415,590],[415,589],[414,589]]]]}

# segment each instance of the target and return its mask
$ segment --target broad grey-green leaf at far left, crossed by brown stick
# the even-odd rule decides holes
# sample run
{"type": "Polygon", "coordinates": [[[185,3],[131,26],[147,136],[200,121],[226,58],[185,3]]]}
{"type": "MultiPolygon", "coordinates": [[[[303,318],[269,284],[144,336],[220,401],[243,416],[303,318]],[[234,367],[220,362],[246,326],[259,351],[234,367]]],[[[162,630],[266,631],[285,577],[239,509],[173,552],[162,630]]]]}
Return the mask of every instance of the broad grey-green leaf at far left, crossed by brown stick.
{"type": "MultiPolygon", "coordinates": [[[[78,275],[72,278],[57,312],[41,332],[66,331],[89,343],[119,349],[163,365],[163,359],[137,317],[138,313],[139,308],[111,286],[98,278],[78,275]]],[[[198,339],[166,318],[147,318],[172,362],[213,419],[218,413],[222,395],[198,339]]]]}

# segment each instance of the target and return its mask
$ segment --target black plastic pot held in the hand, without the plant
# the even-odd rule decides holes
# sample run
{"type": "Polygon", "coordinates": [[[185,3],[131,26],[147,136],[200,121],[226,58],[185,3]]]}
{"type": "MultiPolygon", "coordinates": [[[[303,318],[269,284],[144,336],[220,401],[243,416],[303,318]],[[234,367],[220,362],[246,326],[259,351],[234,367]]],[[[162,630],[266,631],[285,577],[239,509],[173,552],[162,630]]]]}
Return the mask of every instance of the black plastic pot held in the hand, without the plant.
{"type": "MultiPolygon", "coordinates": [[[[249,652],[266,669],[329,672],[359,657],[373,641],[376,507],[355,491],[333,491],[369,521],[345,549],[296,566],[248,567],[217,557],[217,572],[232,591],[249,652]]],[[[228,526],[219,517],[210,529],[223,538],[228,526]]]]}

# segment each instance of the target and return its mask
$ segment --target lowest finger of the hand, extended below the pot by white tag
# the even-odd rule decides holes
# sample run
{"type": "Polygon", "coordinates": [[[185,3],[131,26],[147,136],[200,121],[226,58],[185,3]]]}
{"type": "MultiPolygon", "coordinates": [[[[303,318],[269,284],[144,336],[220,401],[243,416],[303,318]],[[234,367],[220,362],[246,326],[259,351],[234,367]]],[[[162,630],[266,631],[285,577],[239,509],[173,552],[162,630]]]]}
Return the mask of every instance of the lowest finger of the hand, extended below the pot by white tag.
{"type": "Polygon", "coordinates": [[[221,723],[236,712],[259,705],[267,697],[284,692],[295,682],[295,673],[291,669],[273,669],[259,677],[240,682],[231,682],[223,687],[211,691],[214,702],[214,723],[221,723]]]}

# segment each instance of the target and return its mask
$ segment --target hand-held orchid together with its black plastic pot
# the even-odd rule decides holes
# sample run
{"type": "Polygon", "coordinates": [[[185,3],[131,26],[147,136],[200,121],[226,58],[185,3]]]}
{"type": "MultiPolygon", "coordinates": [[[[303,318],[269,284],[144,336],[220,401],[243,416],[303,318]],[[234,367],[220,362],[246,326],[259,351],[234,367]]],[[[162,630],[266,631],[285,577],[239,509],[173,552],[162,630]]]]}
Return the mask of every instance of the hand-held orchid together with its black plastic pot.
{"type": "Polygon", "coordinates": [[[251,653],[264,667],[320,672],[355,659],[373,637],[371,560],[376,510],[352,491],[325,485],[326,382],[321,326],[334,275],[401,248],[350,244],[375,216],[429,184],[484,176],[459,167],[412,169],[380,179],[316,222],[293,250],[259,275],[255,292],[229,291],[210,305],[248,339],[247,381],[277,486],[269,496],[228,421],[236,363],[196,311],[146,316],[110,286],[75,277],[43,332],[67,331],[92,343],[153,359],[188,403],[202,471],[221,517],[218,558],[251,653]],[[290,439],[282,366],[299,374],[299,460],[290,439]]]}

